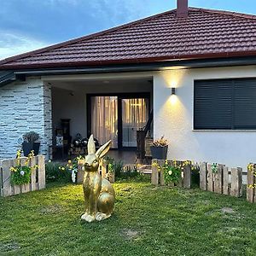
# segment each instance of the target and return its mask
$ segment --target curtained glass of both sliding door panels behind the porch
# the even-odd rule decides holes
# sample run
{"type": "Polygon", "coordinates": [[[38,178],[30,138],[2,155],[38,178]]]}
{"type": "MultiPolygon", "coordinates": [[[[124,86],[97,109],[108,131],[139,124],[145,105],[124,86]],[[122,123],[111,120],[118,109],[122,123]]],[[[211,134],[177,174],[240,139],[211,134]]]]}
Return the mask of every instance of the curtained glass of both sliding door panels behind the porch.
{"type": "Polygon", "coordinates": [[[137,147],[137,131],[148,122],[148,97],[90,96],[90,133],[112,148],[137,147]]]}

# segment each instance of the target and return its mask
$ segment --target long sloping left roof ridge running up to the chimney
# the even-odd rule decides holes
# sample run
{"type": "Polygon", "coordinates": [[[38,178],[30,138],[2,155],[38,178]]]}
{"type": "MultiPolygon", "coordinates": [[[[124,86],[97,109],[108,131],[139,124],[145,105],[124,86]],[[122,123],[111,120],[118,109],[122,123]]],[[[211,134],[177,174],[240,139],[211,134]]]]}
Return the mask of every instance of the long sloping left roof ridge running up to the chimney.
{"type": "Polygon", "coordinates": [[[26,57],[29,57],[31,55],[37,55],[37,54],[40,54],[40,53],[44,53],[45,51],[48,51],[48,50],[58,49],[58,48],[61,48],[63,46],[67,46],[69,44],[79,43],[80,41],[84,41],[86,39],[96,38],[96,37],[105,35],[108,32],[114,32],[114,31],[117,31],[119,29],[123,29],[123,28],[129,27],[129,26],[137,25],[137,24],[139,24],[143,21],[152,20],[152,19],[155,19],[155,18],[160,17],[162,15],[171,14],[171,13],[175,12],[176,10],[177,9],[171,9],[171,10],[168,10],[166,12],[156,14],[156,15],[151,15],[151,16],[145,17],[145,18],[140,19],[140,20],[134,20],[134,21],[131,21],[129,23],[125,23],[125,24],[122,24],[122,25],[119,25],[119,26],[114,26],[114,27],[109,28],[107,30],[102,30],[101,32],[92,33],[92,34],[82,36],[82,37],[79,37],[79,38],[74,38],[74,39],[71,39],[71,40],[67,40],[67,41],[64,41],[64,42],[61,42],[61,43],[58,43],[58,44],[52,44],[52,45],[49,45],[49,46],[41,48],[41,49],[35,49],[35,50],[29,51],[29,52],[26,52],[26,53],[23,53],[23,54],[20,54],[20,55],[11,56],[9,58],[5,58],[3,60],[0,60],[0,65],[6,64],[10,61],[16,61],[20,58],[26,58],[26,57]]]}

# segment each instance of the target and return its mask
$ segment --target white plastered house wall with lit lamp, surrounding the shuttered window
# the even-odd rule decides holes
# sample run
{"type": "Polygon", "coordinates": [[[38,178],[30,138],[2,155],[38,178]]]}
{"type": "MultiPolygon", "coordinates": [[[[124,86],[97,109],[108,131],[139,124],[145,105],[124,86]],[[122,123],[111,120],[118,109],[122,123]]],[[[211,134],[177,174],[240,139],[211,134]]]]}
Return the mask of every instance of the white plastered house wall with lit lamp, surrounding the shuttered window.
{"type": "Polygon", "coordinates": [[[256,131],[193,131],[194,80],[249,77],[256,77],[255,66],[154,73],[154,138],[168,139],[169,159],[218,162],[244,171],[256,162],[256,131]],[[176,96],[171,97],[171,87],[177,88],[176,96]]]}

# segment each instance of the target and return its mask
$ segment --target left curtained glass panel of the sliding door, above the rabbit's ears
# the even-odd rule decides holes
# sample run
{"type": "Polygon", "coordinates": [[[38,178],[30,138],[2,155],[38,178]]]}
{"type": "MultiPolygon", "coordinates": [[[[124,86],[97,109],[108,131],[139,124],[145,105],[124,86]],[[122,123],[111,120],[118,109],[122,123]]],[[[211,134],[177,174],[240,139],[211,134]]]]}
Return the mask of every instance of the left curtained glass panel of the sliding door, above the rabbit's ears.
{"type": "Polygon", "coordinates": [[[112,140],[112,148],[118,148],[118,97],[90,97],[91,122],[93,136],[102,145],[112,140]]]}

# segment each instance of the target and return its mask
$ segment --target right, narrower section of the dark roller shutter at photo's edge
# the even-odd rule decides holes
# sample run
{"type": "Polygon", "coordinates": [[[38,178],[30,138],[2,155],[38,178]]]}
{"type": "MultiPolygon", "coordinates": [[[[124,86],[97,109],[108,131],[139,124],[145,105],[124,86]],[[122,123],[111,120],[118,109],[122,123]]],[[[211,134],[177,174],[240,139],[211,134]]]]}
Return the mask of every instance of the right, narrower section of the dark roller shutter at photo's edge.
{"type": "Polygon", "coordinates": [[[256,79],[234,79],[234,129],[256,128],[256,79]]]}

